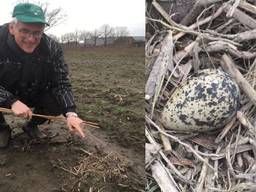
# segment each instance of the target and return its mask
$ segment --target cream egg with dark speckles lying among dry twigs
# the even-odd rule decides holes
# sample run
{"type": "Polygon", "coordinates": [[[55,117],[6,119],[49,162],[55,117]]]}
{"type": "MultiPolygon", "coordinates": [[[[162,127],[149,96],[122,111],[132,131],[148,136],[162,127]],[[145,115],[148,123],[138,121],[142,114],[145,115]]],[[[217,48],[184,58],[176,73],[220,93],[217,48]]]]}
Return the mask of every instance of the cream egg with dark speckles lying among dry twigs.
{"type": "Polygon", "coordinates": [[[223,127],[236,114],[239,88],[221,69],[205,69],[177,88],[161,113],[175,131],[209,131],[223,127]]]}

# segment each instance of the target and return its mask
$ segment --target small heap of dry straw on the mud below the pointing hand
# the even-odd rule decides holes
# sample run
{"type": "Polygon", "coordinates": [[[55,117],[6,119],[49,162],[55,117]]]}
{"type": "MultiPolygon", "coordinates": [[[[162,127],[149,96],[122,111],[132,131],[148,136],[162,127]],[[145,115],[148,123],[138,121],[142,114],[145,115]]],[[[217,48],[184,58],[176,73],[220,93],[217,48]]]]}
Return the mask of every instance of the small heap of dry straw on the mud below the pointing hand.
{"type": "Polygon", "coordinates": [[[95,183],[114,182],[117,184],[127,181],[129,163],[120,154],[116,152],[94,154],[83,148],[77,148],[77,150],[85,155],[75,166],[67,167],[63,165],[63,162],[55,164],[55,167],[75,176],[72,191],[80,191],[81,184],[91,180],[95,183]]]}

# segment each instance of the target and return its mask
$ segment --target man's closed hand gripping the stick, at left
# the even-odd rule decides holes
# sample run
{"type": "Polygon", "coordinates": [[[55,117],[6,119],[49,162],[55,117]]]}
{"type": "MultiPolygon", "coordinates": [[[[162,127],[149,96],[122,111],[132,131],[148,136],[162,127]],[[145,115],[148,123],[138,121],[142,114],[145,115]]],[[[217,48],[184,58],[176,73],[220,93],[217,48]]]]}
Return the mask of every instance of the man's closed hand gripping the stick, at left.
{"type": "Polygon", "coordinates": [[[32,118],[31,109],[19,100],[12,104],[11,110],[16,116],[24,117],[26,119],[32,118]]]}

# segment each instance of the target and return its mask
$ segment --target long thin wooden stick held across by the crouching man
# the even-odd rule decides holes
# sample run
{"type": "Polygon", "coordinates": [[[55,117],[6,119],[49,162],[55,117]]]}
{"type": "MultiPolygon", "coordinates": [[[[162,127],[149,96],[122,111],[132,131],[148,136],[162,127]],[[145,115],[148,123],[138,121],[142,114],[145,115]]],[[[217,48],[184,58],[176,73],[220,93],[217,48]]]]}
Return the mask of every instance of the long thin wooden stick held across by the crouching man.
{"type": "MultiPolygon", "coordinates": [[[[11,109],[7,109],[4,107],[0,107],[0,112],[13,113],[11,109]]],[[[55,120],[55,121],[66,121],[65,117],[63,117],[63,116],[40,115],[40,114],[36,114],[36,113],[32,113],[32,116],[42,117],[45,119],[55,120]]],[[[98,124],[94,123],[94,122],[84,121],[83,123],[90,127],[99,128],[98,124]]]]}

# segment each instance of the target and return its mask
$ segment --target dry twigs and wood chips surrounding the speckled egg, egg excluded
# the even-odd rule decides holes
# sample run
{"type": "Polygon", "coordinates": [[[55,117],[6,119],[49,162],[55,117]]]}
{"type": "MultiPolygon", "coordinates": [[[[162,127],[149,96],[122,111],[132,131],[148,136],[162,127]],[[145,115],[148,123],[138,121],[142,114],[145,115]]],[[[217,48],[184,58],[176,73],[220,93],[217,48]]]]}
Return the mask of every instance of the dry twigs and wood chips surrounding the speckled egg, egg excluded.
{"type": "Polygon", "coordinates": [[[256,6],[197,0],[175,17],[179,2],[147,2],[146,190],[256,191],[256,6]],[[158,117],[166,101],[206,68],[239,85],[236,116],[214,132],[167,131],[158,117]]]}

